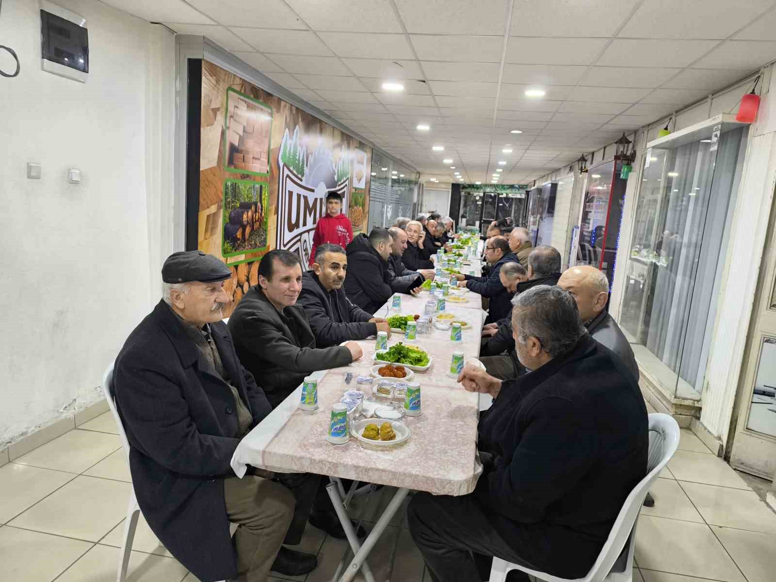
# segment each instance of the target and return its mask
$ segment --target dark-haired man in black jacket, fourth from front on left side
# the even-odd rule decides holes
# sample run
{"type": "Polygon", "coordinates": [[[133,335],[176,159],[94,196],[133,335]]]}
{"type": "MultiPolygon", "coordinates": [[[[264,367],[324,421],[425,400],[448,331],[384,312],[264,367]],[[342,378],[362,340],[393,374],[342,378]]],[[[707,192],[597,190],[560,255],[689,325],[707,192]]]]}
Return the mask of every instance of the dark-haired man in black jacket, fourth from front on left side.
{"type": "Polygon", "coordinates": [[[377,227],[369,237],[359,234],[345,249],[348,252],[345,293],[368,314],[374,314],[393,295],[388,272],[391,243],[388,231],[377,227]]]}

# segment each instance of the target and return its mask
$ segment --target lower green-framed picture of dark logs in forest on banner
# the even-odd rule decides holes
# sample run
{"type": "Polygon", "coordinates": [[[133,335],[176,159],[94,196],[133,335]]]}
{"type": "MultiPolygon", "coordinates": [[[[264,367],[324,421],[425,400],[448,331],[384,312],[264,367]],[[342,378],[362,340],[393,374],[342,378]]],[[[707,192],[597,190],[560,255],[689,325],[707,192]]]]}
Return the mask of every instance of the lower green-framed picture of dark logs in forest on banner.
{"type": "Polygon", "coordinates": [[[250,180],[223,183],[224,257],[267,248],[267,185],[250,180]]]}

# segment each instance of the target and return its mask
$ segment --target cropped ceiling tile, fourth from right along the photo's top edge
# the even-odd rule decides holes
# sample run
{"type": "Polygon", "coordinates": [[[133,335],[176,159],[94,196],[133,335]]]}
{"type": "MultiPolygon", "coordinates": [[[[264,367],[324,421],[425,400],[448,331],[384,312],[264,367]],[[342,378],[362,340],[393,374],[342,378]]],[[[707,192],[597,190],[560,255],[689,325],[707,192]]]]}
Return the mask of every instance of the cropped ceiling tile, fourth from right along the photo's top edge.
{"type": "MultiPolygon", "coordinates": [[[[264,2],[264,0],[262,0],[264,2]]],[[[286,0],[314,30],[358,30],[362,33],[402,32],[390,0],[286,0]]]]}

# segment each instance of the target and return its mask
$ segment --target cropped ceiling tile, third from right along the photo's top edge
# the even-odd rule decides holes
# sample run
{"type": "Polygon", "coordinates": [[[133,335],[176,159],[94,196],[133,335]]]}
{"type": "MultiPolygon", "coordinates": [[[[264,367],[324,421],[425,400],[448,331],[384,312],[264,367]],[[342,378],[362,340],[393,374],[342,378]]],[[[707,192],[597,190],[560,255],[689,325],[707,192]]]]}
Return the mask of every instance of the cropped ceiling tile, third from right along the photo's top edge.
{"type": "Polygon", "coordinates": [[[408,33],[504,34],[507,0],[395,0],[408,33]]]}

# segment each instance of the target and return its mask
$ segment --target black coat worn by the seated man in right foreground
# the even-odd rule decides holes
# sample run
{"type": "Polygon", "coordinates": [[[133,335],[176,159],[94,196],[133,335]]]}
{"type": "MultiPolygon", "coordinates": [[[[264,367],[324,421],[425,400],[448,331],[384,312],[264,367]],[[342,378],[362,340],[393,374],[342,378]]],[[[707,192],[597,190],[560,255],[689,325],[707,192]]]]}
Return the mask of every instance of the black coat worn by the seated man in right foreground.
{"type": "Polygon", "coordinates": [[[644,399],[622,360],[585,334],[502,385],[478,448],[494,456],[474,493],[494,528],[540,570],[584,577],[646,475],[644,399]]]}

